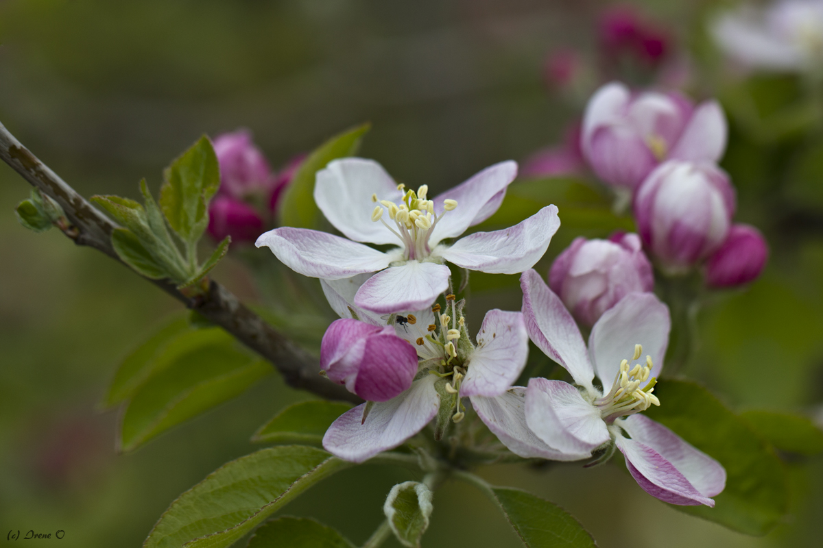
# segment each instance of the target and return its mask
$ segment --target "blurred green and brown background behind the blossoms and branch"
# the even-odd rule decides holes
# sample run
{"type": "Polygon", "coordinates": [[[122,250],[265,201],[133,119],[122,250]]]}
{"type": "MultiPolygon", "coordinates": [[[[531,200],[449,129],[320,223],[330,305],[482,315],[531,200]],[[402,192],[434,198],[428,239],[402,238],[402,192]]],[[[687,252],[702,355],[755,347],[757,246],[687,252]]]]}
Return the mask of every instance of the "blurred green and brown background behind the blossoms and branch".
{"type": "MultiPolygon", "coordinates": [[[[546,90],[544,58],[560,46],[590,53],[609,2],[411,4],[0,0],[0,121],[85,196],[136,197],[141,177],[158,187],[162,168],[204,132],[249,127],[278,166],[370,121],[361,154],[436,190],[524,159],[579,116],[579,103],[546,90]]],[[[727,81],[700,31],[710,2],[638,5],[694,53],[690,91],[723,101],[732,118],[723,167],[738,189],[737,219],[759,226],[772,251],[751,288],[715,295],[700,312],[700,349],[681,374],[733,408],[820,417],[819,120],[770,129],[802,100],[802,85],[793,77],[727,81]]],[[[61,546],[140,546],[177,495],[255,449],[253,431],[308,395],[272,375],[135,453],[115,454],[117,413],[96,403],[119,359],[178,303],[57,231],[26,231],[13,208],[27,195],[26,182],[0,166],[0,544],[9,530],[62,529],[61,546]]],[[[579,233],[565,223],[538,268],[545,273],[579,233]]],[[[215,277],[249,301],[258,295],[239,260],[215,277]]],[[[509,288],[477,282],[472,314],[518,308],[509,288]]],[[[815,546],[823,462],[788,467],[792,511],[758,539],[667,507],[616,466],[490,467],[481,475],[565,507],[599,546],[815,546]]],[[[382,520],[390,486],[410,473],[342,472],[285,513],[314,516],[362,542],[382,520]]],[[[477,491],[448,484],[435,495],[424,546],[520,545],[477,491]]]]}

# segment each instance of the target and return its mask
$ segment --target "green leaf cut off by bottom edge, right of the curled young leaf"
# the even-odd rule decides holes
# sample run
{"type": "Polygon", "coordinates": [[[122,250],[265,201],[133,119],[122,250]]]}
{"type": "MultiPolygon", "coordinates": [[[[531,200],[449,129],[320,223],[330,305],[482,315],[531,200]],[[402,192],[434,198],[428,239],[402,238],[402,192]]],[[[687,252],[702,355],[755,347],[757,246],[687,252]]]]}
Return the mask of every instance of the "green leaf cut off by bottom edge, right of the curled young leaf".
{"type": "Polygon", "coordinates": [[[514,531],[528,548],[588,548],[594,539],[556,504],[524,490],[491,487],[514,531]]]}

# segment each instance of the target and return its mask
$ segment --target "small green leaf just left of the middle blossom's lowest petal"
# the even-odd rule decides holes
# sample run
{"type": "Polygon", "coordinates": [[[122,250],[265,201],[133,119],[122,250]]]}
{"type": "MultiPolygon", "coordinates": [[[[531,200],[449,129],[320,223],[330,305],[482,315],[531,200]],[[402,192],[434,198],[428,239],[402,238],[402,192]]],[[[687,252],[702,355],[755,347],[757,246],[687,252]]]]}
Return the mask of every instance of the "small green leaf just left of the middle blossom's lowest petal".
{"type": "Polygon", "coordinates": [[[332,422],[349,409],[350,404],[340,402],[295,403],[263,425],[252,436],[252,441],[319,444],[332,422]]]}

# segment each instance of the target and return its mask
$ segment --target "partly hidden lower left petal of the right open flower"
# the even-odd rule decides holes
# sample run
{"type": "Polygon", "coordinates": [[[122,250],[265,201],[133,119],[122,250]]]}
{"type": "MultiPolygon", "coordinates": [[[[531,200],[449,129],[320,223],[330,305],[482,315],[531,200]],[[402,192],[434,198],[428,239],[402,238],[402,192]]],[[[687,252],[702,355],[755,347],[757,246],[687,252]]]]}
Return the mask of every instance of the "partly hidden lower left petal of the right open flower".
{"type": "Polygon", "coordinates": [[[526,425],[525,396],[526,389],[514,386],[495,398],[472,396],[470,399],[477,417],[500,443],[520,457],[572,461],[591,456],[591,452],[563,453],[543,443],[526,425]]]}

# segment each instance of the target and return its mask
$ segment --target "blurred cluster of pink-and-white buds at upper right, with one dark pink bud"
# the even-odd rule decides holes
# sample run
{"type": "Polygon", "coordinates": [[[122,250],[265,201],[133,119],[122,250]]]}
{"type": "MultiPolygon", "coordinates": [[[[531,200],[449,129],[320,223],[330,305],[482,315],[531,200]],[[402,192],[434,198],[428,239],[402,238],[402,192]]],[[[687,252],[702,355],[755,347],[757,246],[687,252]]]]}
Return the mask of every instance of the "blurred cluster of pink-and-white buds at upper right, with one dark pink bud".
{"type": "Polygon", "coordinates": [[[586,108],[581,149],[594,173],[631,201],[644,247],[668,274],[696,266],[712,287],[751,282],[765,265],[760,233],[733,225],[735,191],[719,168],[726,118],[712,100],[604,85],[586,108]]]}

